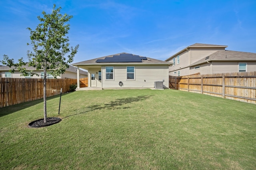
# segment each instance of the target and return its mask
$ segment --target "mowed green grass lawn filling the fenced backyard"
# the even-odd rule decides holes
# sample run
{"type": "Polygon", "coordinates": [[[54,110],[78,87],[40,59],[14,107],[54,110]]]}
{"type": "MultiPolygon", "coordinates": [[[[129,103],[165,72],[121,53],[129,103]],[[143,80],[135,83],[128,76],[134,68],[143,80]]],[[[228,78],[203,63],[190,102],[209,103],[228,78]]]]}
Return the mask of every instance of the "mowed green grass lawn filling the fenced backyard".
{"type": "Polygon", "coordinates": [[[256,169],[256,105],[174,90],[77,91],[0,109],[0,169],[256,169]]]}

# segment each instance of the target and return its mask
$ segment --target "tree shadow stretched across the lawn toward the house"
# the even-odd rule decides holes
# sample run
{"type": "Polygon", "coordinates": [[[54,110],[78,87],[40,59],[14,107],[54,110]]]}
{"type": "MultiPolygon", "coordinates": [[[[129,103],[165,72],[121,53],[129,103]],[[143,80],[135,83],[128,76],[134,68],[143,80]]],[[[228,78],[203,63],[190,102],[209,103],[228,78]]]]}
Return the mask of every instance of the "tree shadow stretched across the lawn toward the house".
{"type": "MultiPolygon", "coordinates": [[[[86,107],[86,109],[88,109],[87,111],[81,112],[81,113],[76,113],[74,115],[80,115],[80,114],[84,114],[90,111],[95,111],[95,110],[101,110],[101,109],[129,109],[130,107],[123,107],[120,108],[122,105],[128,104],[128,103],[133,103],[133,102],[138,102],[138,101],[143,101],[146,99],[149,99],[150,97],[152,97],[152,95],[142,95],[142,96],[138,96],[138,97],[127,97],[127,98],[122,98],[122,99],[116,99],[115,101],[110,101],[110,103],[106,103],[104,104],[104,106],[102,105],[92,105],[89,107],[86,107]]],[[[74,115],[69,115],[67,117],[71,117],[74,115]]],[[[64,118],[67,118],[64,117],[64,118]]]]}

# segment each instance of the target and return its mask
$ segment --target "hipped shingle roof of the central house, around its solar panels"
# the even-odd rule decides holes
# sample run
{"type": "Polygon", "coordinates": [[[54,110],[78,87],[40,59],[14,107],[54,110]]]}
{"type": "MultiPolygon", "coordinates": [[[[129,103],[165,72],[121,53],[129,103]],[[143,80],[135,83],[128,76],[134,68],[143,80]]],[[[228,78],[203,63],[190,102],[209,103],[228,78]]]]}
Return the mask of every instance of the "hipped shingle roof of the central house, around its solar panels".
{"type": "Polygon", "coordinates": [[[100,66],[100,65],[127,65],[127,64],[131,64],[132,65],[172,65],[172,63],[169,63],[167,61],[162,61],[162,60],[158,60],[158,59],[153,59],[153,58],[149,58],[149,57],[143,57],[140,55],[134,55],[134,54],[130,54],[130,53],[118,53],[118,54],[114,54],[114,55],[108,55],[108,56],[104,56],[104,57],[99,57],[99,58],[95,58],[95,59],[90,59],[90,60],[86,60],[86,61],[81,61],[78,63],[73,63],[72,65],[75,66],[100,66]],[[130,57],[134,57],[136,59],[138,59],[138,57],[140,57],[140,61],[138,62],[134,62],[134,61],[130,61],[128,60],[127,62],[122,60],[122,62],[117,62],[116,60],[113,60],[113,62],[111,61],[110,58],[113,58],[114,56],[124,56],[123,54],[127,54],[130,57]],[[106,59],[106,61],[104,62],[104,60],[106,59]],[[100,61],[100,62],[97,62],[100,61]]]}

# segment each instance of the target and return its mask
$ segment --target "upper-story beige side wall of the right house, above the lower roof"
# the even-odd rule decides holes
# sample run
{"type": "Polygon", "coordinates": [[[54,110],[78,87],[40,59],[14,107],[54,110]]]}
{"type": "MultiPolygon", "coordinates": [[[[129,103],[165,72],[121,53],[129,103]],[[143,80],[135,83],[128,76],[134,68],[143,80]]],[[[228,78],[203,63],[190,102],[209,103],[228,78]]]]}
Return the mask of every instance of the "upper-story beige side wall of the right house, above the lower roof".
{"type": "Polygon", "coordinates": [[[190,64],[195,63],[196,61],[207,57],[208,55],[216,52],[216,51],[220,51],[220,50],[225,50],[224,47],[210,47],[210,48],[190,48],[190,55],[191,55],[191,59],[190,59],[190,64]]]}

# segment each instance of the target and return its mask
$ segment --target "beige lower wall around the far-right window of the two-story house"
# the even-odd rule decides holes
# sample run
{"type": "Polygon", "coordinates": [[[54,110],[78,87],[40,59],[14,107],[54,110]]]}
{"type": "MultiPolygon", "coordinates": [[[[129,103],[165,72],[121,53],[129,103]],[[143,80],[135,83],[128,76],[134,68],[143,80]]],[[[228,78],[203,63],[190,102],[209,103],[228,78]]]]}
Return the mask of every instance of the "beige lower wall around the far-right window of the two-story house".
{"type": "Polygon", "coordinates": [[[255,61],[215,61],[212,62],[213,73],[234,73],[238,72],[238,63],[247,63],[247,71],[256,71],[255,61]]]}

